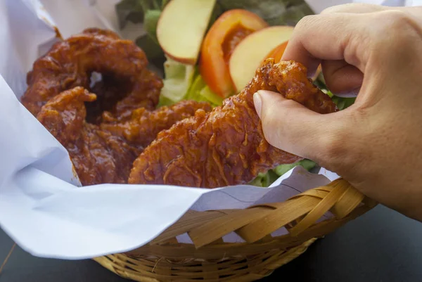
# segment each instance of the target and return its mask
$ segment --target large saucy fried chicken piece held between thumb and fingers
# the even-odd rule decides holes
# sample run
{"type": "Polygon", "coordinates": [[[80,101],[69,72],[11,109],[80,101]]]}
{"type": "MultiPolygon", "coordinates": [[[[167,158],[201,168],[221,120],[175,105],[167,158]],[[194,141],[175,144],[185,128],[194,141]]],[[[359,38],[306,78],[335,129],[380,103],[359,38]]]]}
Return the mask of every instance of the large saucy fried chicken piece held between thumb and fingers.
{"type": "Polygon", "coordinates": [[[266,60],[240,94],[224,100],[210,113],[160,132],[135,160],[129,184],[170,184],[215,188],[245,184],[259,172],[301,158],[271,146],[262,132],[252,96],[258,90],[277,91],[317,113],[337,108],[307,79],[300,63],[266,60]]]}

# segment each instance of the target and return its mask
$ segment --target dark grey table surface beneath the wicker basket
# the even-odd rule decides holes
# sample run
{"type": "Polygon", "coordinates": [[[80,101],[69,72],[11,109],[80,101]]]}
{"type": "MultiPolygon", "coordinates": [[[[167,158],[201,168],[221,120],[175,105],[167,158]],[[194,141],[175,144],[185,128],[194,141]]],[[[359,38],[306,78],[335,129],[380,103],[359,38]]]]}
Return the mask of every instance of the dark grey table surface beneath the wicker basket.
{"type": "MultiPolygon", "coordinates": [[[[13,241],[0,230],[0,264],[13,241]]],[[[422,224],[378,206],[317,241],[262,282],[422,281],[422,224]],[[288,278],[292,277],[292,278],[288,278]]],[[[91,260],[32,257],[16,247],[0,282],[126,282],[91,260]]]]}

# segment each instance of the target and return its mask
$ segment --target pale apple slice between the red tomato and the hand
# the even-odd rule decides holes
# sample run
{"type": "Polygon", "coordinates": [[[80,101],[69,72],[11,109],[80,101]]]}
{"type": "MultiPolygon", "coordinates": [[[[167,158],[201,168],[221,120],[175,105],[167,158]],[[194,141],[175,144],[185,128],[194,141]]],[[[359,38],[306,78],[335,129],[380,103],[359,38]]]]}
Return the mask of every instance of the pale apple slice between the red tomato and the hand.
{"type": "Polygon", "coordinates": [[[276,46],[290,39],[293,27],[278,25],[253,32],[236,46],[229,60],[229,70],[236,91],[241,91],[255,75],[262,60],[276,46]]]}

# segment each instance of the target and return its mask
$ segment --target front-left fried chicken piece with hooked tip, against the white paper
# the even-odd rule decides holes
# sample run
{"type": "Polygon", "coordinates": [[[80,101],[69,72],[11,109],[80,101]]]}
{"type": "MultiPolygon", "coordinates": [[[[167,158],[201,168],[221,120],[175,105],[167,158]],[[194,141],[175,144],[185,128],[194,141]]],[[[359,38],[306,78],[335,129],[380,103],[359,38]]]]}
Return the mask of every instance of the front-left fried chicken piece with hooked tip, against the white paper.
{"type": "Polygon", "coordinates": [[[37,119],[68,150],[82,185],[127,183],[140,152],[119,136],[85,122],[84,102],[95,99],[82,87],[63,91],[41,108],[37,119]]]}

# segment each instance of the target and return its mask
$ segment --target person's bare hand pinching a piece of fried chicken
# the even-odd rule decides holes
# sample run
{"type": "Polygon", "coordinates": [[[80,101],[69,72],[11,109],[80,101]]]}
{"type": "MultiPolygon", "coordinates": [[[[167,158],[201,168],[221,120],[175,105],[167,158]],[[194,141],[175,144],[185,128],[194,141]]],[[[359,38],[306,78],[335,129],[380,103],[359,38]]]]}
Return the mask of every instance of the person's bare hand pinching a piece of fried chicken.
{"type": "Polygon", "coordinates": [[[328,89],[356,93],[321,115],[269,91],[254,95],[271,145],[337,172],[370,198],[422,221],[422,7],[335,6],[303,18],[282,60],[328,89]]]}

